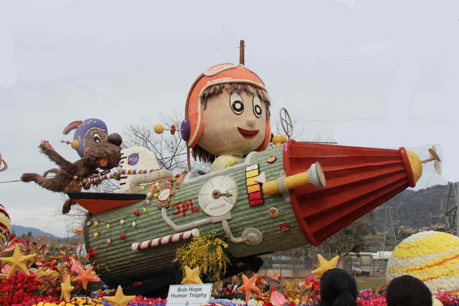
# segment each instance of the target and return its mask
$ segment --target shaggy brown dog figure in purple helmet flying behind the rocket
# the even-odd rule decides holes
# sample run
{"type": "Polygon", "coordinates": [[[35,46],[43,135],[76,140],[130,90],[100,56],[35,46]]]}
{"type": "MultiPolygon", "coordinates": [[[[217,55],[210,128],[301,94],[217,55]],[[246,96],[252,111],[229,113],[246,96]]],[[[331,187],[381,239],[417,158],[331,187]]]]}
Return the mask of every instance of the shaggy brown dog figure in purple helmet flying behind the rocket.
{"type": "MultiPolygon", "coordinates": [[[[76,129],[72,148],[78,151],[82,157],[71,163],[58,154],[53,146],[46,140],[40,145],[40,151],[50,161],[55,162],[60,169],[49,169],[43,175],[37,173],[24,173],[21,176],[23,182],[35,182],[41,187],[54,192],[78,192],[81,191],[80,182],[97,172],[97,168],[111,169],[118,166],[121,159],[122,138],[113,133],[107,137],[107,127],[104,121],[99,119],[86,119],[74,121],[67,125],[64,134],[76,129]],[[52,178],[46,178],[48,173],[56,173],[52,178]]],[[[74,202],[71,199],[65,201],[62,213],[70,211],[74,202]]]]}

